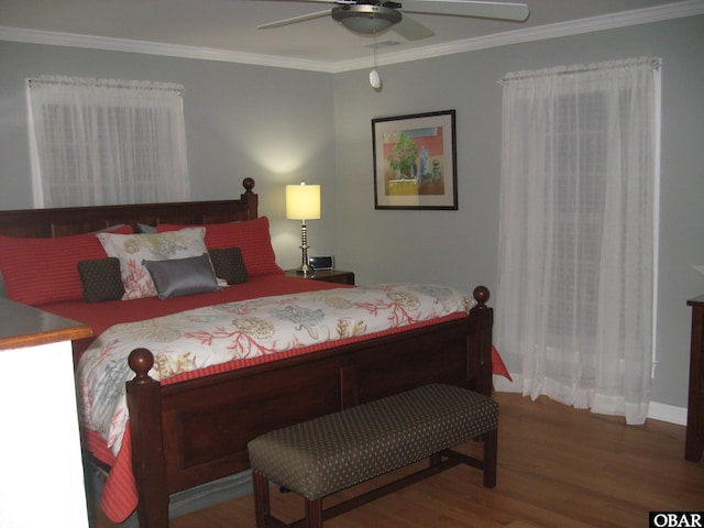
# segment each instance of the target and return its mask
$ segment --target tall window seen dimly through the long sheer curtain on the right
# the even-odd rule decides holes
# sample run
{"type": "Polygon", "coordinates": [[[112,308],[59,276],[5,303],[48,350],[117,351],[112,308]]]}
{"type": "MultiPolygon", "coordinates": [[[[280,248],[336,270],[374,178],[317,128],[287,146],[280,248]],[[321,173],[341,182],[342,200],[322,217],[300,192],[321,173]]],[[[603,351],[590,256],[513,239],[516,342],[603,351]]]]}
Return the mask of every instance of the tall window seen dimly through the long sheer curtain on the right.
{"type": "MultiPolygon", "coordinates": [[[[592,285],[598,282],[604,229],[607,108],[598,92],[556,98],[554,279],[549,295],[549,336],[591,334],[598,316],[592,285]],[[564,290],[566,288],[566,290],[564,290]]],[[[558,338],[559,339],[559,338],[558,338]]],[[[556,344],[556,343],[552,343],[556,344]]]]}

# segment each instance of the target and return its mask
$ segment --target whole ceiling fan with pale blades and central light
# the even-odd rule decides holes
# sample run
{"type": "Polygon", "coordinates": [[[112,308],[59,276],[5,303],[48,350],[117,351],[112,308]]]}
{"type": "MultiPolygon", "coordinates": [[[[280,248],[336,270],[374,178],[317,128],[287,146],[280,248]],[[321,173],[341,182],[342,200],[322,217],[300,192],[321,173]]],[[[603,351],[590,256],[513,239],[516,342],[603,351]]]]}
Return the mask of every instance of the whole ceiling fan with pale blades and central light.
{"type": "Polygon", "coordinates": [[[406,13],[442,14],[522,22],[530,13],[525,3],[485,2],[473,0],[304,0],[308,2],[332,3],[332,9],[302,14],[258,25],[258,30],[280,28],[331,15],[348,30],[365,35],[377,34],[393,26],[393,30],[408,41],[418,41],[435,35],[435,32],[406,13]],[[403,14],[402,14],[403,12],[403,14]]]}

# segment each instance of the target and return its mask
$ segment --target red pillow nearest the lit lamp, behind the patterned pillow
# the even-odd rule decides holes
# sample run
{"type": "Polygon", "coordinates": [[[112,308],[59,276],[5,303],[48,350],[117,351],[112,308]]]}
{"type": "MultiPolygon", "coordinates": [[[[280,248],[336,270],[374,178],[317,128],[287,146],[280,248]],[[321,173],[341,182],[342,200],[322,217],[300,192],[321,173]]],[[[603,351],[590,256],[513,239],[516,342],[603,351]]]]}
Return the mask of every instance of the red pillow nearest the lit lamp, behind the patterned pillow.
{"type": "MultiPolygon", "coordinates": [[[[160,223],[156,229],[163,233],[193,227],[195,226],[160,223]]],[[[268,218],[260,217],[256,220],[232,223],[207,223],[202,227],[206,228],[207,249],[240,248],[244,267],[250,276],[284,273],[276,264],[276,255],[268,233],[268,218]]]]}

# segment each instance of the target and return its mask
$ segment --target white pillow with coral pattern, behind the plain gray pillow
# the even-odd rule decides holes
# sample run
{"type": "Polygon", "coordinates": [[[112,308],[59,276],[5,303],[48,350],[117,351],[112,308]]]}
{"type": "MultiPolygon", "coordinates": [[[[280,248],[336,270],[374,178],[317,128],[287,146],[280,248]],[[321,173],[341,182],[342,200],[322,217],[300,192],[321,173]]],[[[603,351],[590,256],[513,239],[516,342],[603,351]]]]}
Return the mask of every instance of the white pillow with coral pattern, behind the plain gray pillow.
{"type": "Polygon", "coordinates": [[[207,252],[205,228],[152,234],[100,233],[98,239],[108,256],[120,260],[120,274],[124,285],[123,299],[156,297],[152,276],[142,261],[168,261],[200,256],[207,252]]]}

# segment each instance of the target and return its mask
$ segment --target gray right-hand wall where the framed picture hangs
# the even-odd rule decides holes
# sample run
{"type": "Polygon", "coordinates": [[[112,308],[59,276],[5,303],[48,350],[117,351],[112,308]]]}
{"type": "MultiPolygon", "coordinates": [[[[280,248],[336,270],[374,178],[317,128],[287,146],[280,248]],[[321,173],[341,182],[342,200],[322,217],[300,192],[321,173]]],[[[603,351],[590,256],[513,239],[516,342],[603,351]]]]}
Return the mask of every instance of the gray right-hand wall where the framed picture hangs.
{"type": "MultiPolygon", "coordinates": [[[[496,286],[502,88],[506,73],[658,56],[662,162],[653,402],[686,407],[691,312],[704,294],[704,18],[382,66],[334,77],[339,261],[360,283],[496,286]],[[371,120],[457,110],[459,211],[374,210],[371,120]]],[[[501,317],[501,306],[495,306],[501,317]]]]}

